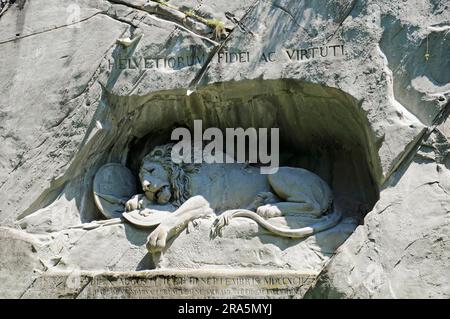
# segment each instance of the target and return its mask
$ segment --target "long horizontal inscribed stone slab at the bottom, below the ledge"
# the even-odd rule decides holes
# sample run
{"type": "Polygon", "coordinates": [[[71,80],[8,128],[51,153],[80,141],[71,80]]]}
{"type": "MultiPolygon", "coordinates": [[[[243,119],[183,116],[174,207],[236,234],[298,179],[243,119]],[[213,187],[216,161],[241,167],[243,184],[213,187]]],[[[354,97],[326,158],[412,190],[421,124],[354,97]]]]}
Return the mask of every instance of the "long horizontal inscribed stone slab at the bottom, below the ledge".
{"type": "Polygon", "coordinates": [[[39,277],[23,298],[302,298],[316,276],[296,271],[72,271],[39,277]]]}

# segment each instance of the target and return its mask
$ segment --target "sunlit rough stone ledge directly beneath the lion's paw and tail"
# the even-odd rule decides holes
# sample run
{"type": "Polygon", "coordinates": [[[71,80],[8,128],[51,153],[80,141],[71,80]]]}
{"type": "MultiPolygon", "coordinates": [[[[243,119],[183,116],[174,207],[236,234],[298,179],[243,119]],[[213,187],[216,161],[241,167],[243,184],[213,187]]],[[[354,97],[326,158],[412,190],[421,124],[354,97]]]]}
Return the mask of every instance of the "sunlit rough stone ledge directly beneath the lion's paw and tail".
{"type": "MultiPolygon", "coordinates": [[[[278,224],[286,222],[280,220],[278,224]]],[[[289,225],[304,226],[293,222],[289,225]]],[[[302,240],[274,236],[253,221],[233,220],[220,238],[212,239],[211,222],[202,220],[197,228],[181,234],[153,259],[156,268],[161,269],[264,268],[314,273],[327,263],[355,227],[352,220],[344,220],[336,227],[302,240]]]]}

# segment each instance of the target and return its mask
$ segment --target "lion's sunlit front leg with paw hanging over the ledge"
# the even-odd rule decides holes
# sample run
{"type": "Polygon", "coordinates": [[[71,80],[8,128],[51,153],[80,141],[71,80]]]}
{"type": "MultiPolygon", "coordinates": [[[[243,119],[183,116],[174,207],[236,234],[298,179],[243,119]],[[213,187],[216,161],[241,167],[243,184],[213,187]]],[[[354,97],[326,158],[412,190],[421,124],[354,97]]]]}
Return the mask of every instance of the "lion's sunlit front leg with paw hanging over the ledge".
{"type": "Polygon", "coordinates": [[[167,241],[178,235],[190,222],[213,214],[214,212],[205,198],[202,196],[191,197],[149,235],[148,251],[151,253],[161,251],[166,247],[167,241]]]}

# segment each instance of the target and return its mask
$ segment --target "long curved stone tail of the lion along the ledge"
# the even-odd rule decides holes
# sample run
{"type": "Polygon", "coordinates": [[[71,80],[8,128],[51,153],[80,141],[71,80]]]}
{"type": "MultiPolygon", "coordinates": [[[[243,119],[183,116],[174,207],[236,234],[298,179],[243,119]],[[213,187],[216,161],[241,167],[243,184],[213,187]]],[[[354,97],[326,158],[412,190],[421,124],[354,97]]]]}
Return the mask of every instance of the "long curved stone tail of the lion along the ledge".
{"type": "Polygon", "coordinates": [[[282,237],[303,238],[336,226],[342,218],[342,213],[337,209],[333,209],[331,213],[321,217],[317,223],[297,229],[275,226],[255,212],[247,209],[237,209],[233,212],[231,217],[247,217],[253,219],[268,231],[282,237]]]}

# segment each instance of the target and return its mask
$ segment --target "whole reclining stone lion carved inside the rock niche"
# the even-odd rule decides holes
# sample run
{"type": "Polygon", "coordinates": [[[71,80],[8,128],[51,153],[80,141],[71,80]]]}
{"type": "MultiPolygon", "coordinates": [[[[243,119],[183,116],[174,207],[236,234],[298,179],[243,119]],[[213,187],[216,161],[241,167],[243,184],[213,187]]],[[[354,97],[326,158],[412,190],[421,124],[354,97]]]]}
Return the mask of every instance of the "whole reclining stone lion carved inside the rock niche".
{"type": "Polygon", "coordinates": [[[159,226],[149,235],[147,248],[154,252],[165,247],[198,218],[218,215],[212,233],[220,234],[233,217],[247,217],[274,234],[301,238],[335,226],[341,215],[333,210],[328,185],[317,175],[293,167],[280,167],[277,173],[260,174],[259,168],[245,164],[175,164],[172,144],[156,147],[144,157],[139,171],[143,194],[125,205],[125,219],[149,226],[146,218],[166,207],[159,226]],[[161,206],[165,205],[165,206],[161,206]],[[172,209],[170,209],[172,208],[172,209]],[[303,214],[317,218],[310,227],[289,229],[272,225],[267,219],[303,214]],[[134,217],[133,217],[134,216],[134,217]]]}

